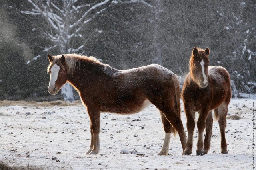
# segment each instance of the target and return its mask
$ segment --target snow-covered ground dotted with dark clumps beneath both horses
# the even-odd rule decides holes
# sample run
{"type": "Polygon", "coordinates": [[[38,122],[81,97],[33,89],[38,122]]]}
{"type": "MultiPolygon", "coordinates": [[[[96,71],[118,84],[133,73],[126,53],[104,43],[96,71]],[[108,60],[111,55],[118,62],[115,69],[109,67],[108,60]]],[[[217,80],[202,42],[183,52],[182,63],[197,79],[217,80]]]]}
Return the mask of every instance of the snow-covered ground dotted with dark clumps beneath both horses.
{"type": "MultiPolygon", "coordinates": [[[[253,102],[231,100],[228,117],[241,119],[227,119],[228,154],[220,154],[219,127],[214,121],[211,149],[204,156],[195,155],[197,127],[191,156],[181,155],[178,136],[171,137],[168,156],[157,156],[164,130],[153,105],[134,115],[102,113],[98,155],[85,154],[90,145],[90,121],[84,106],[2,106],[0,161],[47,170],[252,169],[253,102]],[[122,149],[144,156],[120,154],[122,149]]],[[[182,122],[186,131],[183,105],[182,122]]]]}

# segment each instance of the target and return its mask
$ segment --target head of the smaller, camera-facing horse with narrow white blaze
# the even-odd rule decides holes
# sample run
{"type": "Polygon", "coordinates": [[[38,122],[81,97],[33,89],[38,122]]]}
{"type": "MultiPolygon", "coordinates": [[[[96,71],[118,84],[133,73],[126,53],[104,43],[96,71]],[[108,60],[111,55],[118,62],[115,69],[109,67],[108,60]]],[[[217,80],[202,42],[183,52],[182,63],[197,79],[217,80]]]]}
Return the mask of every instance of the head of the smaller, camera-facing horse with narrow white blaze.
{"type": "Polygon", "coordinates": [[[208,85],[209,53],[208,48],[203,50],[194,47],[190,57],[190,76],[200,88],[205,88],[208,85]]]}

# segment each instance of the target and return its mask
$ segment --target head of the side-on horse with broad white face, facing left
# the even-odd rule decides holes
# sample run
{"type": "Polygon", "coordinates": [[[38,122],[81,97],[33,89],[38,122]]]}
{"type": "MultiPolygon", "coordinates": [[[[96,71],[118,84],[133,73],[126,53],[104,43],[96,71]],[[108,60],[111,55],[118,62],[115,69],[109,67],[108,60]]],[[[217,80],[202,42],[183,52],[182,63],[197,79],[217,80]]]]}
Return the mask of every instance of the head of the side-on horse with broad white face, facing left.
{"type": "Polygon", "coordinates": [[[50,94],[57,94],[60,88],[68,80],[68,72],[66,69],[66,59],[64,55],[54,56],[48,54],[50,64],[47,72],[50,73],[50,82],[48,92],[50,94]]]}

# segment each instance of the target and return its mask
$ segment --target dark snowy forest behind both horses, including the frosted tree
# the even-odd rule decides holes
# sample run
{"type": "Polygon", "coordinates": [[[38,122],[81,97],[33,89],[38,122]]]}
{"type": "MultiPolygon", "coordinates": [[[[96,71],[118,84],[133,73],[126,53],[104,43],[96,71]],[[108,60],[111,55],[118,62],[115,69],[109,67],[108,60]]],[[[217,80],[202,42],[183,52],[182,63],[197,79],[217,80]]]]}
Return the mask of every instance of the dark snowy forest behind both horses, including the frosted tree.
{"type": "Polygon", "coordinates": [[[228,70],[233,97],[256,93],[255,0],[0,1],[0,100],[62,99],[47,92],[48,53],[160,64],[182,85],[195,46],[228,70]]]}

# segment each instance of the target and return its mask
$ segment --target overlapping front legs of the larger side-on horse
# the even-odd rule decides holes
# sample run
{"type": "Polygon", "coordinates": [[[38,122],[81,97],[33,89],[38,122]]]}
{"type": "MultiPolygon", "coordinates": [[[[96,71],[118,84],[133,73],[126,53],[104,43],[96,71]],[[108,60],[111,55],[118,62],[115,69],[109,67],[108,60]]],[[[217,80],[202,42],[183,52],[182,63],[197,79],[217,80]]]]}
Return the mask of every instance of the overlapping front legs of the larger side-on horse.
{"type": "Polygon", "coordinates": [[[100,110],[87,108],[90,117],[91,145],[86,154],[98,154],[100,151],[100,110]]]}

